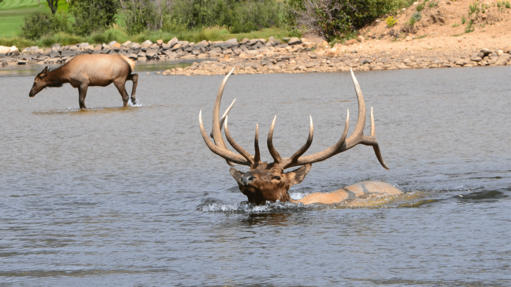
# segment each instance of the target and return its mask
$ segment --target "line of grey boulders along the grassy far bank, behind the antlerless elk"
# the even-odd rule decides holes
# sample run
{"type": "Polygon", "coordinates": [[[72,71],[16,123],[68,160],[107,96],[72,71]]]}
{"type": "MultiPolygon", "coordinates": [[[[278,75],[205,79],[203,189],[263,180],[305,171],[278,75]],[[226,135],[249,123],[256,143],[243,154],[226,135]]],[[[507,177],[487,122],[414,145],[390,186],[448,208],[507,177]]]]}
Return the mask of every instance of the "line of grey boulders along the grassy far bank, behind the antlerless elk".
{"type": "MultiPolygon", "coordinates": [[[[118,43],[112,41],[108,44],[90,45],[89,43],[80,43],[76,45],[62,46],[53,44],[46,49],[40,49],[38,46],[27,47],[19,52],[17,47],[0,46],[0,64],[5,65],[24,65],[24,64],[51,64],[64,63],[76,55],[81,54],[119,54],[132,60],[193,60],[193,59],[216,59],[225,55],[238,56],[241,53],[251,56],[263,52],[273,51],[274,49],[286,48],[290,45],[302,44],[298,38],[279,39],[270,37],[266,39],[243,39],[238,42],[236,38],[227,41],[201,41],[199,43],[179,41],[173,38],[167,43],[157,40],[156,43],[146,40],[143,43],[118,43]]],[[[304,51],[312,51],[314,43],[308,43],[304,51]]]]}

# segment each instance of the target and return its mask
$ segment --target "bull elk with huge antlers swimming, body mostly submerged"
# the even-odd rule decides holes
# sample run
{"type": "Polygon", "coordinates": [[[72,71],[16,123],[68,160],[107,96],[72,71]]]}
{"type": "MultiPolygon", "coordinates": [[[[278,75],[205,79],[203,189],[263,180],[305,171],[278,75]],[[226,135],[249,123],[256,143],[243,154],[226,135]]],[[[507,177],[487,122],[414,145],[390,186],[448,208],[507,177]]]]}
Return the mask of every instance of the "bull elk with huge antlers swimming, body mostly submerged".
{"type": "MultiPolygon", "coordinates": [[[[225,111],[222,118],[219,118],[220,112],[220,101],[222,100],[222,93],[229,79],[229,76],[233,73],[233,70],[230,71],[227,76],[222,81],[220,85],[220,89],[218,90],[217,99],[215,101],[215,106],[213,108],[213,131],[211,132],[211,137],[214,139],[214,142],[208,138],[206,131],[204,130],[204,125],[202,124],[202,110],[199,113],[199,126],[200,131],[202,133],[202,137],[206,142],[206,145],[210,150],[224,158],[229,165],[235,165],[234,163],[248,165],[250,166],[250,171],[243,173],[233,168],[230,169],[230,174],[236,179],[238,185],[240,187],[241,192],[247,196],[248,201],[255,204],[264,204],[267,200],[269,201],[291,201],[291,202],[301,202],[304,204],[311,203],[323,203],[323,204],[332,204],[342,202],[349,198],[364,198],[366,196],[370,197],[381,197],[381,196],[390,196],[390,195],[399,195],[402,194],[401,190],[398,188],[385,183],[378,181],[364,181],[361,183],[357,183],[342,189],[338,189],[335,192],[331,193],[314,193],[305,196],[304,198],[294,201],[289,197],[288,190],[294,185],[300,183],[304,180],[305,176],[311,169],[312,163],[326,160],[338,153],[347,151],[359,143],[366,146],[372,146],[376,157],[380,161],[383,168],[388,170],[387,164],[382,158],[380,153],[380,148],[378,147],[378,142],[376,141],[375,136],[375,121],[373,117],[373,108],[371,108],[371,134],[369,136],[365,136],[363,134],[364,126],[365,126],[365,102],[362,97],[362,91],[360,90],[360,86],[358,84],[353,71],[351,72],[353,84],[355,85],[355,92],[357,94],[358,99],[358,119],[357,125],[355,126],[355,131],[350,137],[346,138],[349,126],[350,113],[348,111],[346,115],[346,122],[344,125],[344,131],[342,133],[341,138],[337,143],[318,153],[302,156],[307,149],[311,146],[312,136],[313,136],[313,125],[312,125],[312,117],[310,118],[310,129],[309,129],[309,137],[307,138],[307,142],[303,147],[301,147],[298,151],[296,151],[291,157],[282,158],[281,155],[275,150],[273,147],[273,128],[275,126],[276,116],[273,118],[273,122],[271,123],[270,132],[268,133],[268,150],[273,158],[273,162],[267,163],[262,162],[259,151],[259,127],[255,126],[255,154],[252,156],[245,149],[238,145],[234,141],[234,139],[229,134],[229,128],[227,126],[227,114],[229,113],[231,107],[234,105],[234,101],[225,111]],[[239,153],[236,154],[227,150],[225,146],[225,142],[223,140],[221,129],[222,125],[225,127],[225,137],[229,141],[230,145],[239,153]],[[285,173],[284,170],[288,168],[292,168],[293,166],[299,166],[300,168],[285,173]]],[[[236,99],[235,99],[236,101],[236,99]]]]}

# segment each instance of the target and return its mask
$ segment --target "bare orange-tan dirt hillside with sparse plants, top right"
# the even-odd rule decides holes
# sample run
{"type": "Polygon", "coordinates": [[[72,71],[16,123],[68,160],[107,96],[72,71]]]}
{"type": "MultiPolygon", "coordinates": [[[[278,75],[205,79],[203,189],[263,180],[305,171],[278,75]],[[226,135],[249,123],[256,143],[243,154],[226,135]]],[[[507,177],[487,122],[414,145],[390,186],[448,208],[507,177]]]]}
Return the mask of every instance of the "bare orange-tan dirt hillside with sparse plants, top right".
{"type": "Polygon", "coordinates": [[[339,48],[355,48],[359,52],[458,50],[460,53],[503,49],[511,44],[511,9],[506,6],[509,4],[496,0],[426,0],[426,3],[421,0],[400,10],[394,17],[396,25],[388,27],[386,18],[382,17],[359,31],[362,42],[339,48]],[[407,25],[421,5],[424,7],[421,19],[412,27],[407,25]],[[472,13],[471,5],[475,10],[472,13]]]}

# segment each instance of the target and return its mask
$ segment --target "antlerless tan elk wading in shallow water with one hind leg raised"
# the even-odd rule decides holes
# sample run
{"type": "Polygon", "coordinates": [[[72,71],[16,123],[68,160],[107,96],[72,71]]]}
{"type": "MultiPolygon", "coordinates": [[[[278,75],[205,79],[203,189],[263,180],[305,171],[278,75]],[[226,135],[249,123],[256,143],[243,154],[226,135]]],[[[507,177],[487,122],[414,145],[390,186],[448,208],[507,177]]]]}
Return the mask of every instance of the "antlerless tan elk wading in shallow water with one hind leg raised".
{"type": "Polygon", "coordinates": [[[45,67],[34,79],[34,85],[29,96],[32,98],[45,87],[62,87],[69,83],[78,88],[80,109],[85,107],[85,95],[87,87],[106,87],[113,83],[123,97],[123,106],[128,106],[129,96],[126,92],[126,81],[133,81],[131,89],[131,102],[135,101],[135,90],[138,82],[138,74],[131,74],[135,68],[135,62],[122,55],[78,55],[63,66],[48,71],[45,67]]]}

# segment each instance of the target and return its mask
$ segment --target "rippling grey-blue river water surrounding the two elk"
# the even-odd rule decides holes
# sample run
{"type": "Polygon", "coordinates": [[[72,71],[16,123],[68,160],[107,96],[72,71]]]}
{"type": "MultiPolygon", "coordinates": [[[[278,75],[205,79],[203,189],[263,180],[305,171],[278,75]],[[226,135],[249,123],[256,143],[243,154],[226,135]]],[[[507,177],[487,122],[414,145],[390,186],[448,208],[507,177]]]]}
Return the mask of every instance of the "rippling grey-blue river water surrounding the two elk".
{"type": "MultiPolygon", "coordinates": [[[[198,127],[222,76],[139,71],[140,107],[90,87],[80,111],[68,84],[29,98],[30,73],[0,77],[0,285],[509,286],[508,67],[357,73],[390,170],[357,146],[291,190],[380,180],[431,199],[411,208],[247,205],[198,127]]],[[[264,160],[275,114],[283,156],[309,115],[308,153],[338,140],[347,108],[355,127],[349,73],[233,75],[221,112],[234,98],[229,130],[253,153],[259,123],[264,160]]]]}

